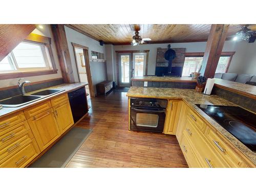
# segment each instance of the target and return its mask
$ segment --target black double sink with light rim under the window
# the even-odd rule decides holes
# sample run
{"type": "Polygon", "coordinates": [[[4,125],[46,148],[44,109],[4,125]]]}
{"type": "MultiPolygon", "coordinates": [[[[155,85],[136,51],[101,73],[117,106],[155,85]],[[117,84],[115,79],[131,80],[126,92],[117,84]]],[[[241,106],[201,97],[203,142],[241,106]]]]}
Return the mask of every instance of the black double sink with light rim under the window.
{"type": "Polygon", "coordinates": [[[30,102],[49,97],[51,95],[57,94],[59,92],[65,91],[64,89],[46,89],[37,92],[28,93],[26,95],[18,95],[8,99],[0,101],[0,105],[4,107],[13,107],[22,106],[30,102]]]}

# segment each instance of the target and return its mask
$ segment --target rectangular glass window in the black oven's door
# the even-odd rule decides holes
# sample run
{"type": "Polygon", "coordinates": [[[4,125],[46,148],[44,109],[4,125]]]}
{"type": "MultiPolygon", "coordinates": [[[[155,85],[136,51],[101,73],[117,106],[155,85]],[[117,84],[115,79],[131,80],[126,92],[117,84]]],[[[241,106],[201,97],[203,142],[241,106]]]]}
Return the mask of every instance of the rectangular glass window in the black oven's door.
{"type": "Polygon", "coordinates": [[[157,127],[158,117],[159,116],[156,114],[137,113],[136,125],[147,126],[147,127],[157,127]]]}

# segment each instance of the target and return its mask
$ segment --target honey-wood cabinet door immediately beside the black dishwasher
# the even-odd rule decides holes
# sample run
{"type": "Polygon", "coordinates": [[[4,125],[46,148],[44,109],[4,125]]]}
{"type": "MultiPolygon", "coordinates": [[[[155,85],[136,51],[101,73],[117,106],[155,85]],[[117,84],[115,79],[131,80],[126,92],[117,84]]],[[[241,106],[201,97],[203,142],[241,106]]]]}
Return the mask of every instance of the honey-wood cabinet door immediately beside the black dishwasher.
{"type": "Polygon", "coordinates": [[[69,101],[54,106],[53,111],[57,119],[59,130],[62,134],[74,124],[69,101]]]}

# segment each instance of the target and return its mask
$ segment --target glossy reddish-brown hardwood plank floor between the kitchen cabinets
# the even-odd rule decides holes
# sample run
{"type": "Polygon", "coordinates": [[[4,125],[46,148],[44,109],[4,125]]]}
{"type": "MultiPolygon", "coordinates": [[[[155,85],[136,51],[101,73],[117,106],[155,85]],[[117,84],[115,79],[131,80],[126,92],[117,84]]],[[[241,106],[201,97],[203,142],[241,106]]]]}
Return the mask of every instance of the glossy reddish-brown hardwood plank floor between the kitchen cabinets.
{"type": "Polygon", "coordinates": [[[77,126],[93,132],[66,167],[187,167],[175,136],[128,131],[126,93],[91,98],[77,126]]]}

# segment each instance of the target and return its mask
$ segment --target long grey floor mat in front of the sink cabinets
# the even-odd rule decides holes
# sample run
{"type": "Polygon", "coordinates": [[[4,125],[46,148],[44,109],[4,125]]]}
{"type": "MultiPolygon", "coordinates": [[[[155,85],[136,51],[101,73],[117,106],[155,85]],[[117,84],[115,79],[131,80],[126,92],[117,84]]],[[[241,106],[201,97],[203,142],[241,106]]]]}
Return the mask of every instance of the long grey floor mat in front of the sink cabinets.
{"type": "Polygon", "coordinates": [[[91,134],[92,130],[73,127],[62,137],[48,152],[42,155],[29,167],[33,168],[58,168],[65,167],[77,152],[78,148],[91,134]]]}

